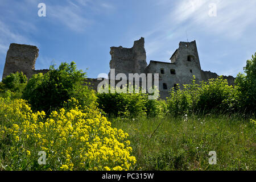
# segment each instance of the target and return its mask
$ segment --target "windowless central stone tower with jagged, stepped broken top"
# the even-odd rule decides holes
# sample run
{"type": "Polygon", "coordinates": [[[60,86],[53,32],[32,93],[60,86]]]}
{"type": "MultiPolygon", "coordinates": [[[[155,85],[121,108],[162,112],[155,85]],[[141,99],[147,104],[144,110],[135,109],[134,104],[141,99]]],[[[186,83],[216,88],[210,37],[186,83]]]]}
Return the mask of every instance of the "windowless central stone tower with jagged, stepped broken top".
{"type": "MultiPolygon", "coordinates": [[[[144,38],[134,42],[132,48],[110,47],[110,69],[115,69],[115,75],[125,73],[143,73],[147,67],[144,38]]],[[[109,75],[110,77],[110,75],[109,75]]]]}

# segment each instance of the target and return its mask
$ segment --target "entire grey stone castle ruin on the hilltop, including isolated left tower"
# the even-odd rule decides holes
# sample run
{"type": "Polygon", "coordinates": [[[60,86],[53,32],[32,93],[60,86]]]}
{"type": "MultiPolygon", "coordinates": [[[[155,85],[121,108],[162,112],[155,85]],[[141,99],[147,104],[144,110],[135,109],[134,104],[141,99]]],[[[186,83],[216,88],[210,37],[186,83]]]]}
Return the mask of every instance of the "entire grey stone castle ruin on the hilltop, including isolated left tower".
{"type": "MultiPolygon", "coordinates": [[[[24,44],[10,44],[7,51],[3,77],[10,73],[23,72],[28,78],[37,73],[47,73],[48,69],[35,70],[35,61],[38,57],[39,49],[36,46],[24,44]]],[[[196,81],[217,78],[216,73],[201,70],[196,41],[180,42],[170,58],[170,63],[153,61],[147,65],[146,51],[144,49],[144,38],[134,42],[132,48],[111,47],[110,48],[110,69],[115,69],[115,75],[124,73],[127,77],[129,73],[159,73],[159,93],[160,98],[166,98],[171,88],[177,84],[189,84],[193,75],[196,81]]],[[[110,74],[109,74],[110,78],[110,74]]],[[[224,76],[229,85],[234,85],[234,77],[224,76]]],[[[97,78],[87,78],[86,82],[91,83],[91,87],[97,90],[97,85],[101,82],[97,78]]]]}

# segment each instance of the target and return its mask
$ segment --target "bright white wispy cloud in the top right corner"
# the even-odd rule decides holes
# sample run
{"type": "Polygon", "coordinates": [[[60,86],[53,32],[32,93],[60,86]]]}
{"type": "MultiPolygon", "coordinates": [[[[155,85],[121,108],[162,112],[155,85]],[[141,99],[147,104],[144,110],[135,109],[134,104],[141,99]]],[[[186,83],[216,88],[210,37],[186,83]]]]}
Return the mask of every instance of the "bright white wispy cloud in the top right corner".
{"type": "Polygon", "coordinates": [[[239,39],[251,23],[255,22],[255,1],[189,0],[179,1],[174,13],[175,24],[185,23],[187,27],[239,39]],[[209,5],[216,5],[217,15],[209,16],[209,5]]]}

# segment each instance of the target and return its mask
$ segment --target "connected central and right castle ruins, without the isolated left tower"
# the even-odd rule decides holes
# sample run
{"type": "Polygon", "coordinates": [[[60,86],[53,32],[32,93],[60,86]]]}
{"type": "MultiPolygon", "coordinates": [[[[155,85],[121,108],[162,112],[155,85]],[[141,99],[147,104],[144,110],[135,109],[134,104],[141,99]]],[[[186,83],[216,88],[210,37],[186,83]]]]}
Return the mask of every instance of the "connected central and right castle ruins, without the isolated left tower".
{"type": "MultiPolygon", "coordinates": [[[[128,73],[159,73],[160,98],[166,98],[169,90],[177,84],[182,88],[183,84],[191,83],[193,75],[197,82],[218,77],[216,73],[201,70],[196,41],[180,42],[170,63],[151,60],[147,65],[144,38],[135,41],[132,48],[111,47],[110,55],[110,69],[115,69],[115,75],[125,73],[128,77],[128,73]]],[[[234,77],[224,78],[229,85],[234,84],[234,77]]]]}

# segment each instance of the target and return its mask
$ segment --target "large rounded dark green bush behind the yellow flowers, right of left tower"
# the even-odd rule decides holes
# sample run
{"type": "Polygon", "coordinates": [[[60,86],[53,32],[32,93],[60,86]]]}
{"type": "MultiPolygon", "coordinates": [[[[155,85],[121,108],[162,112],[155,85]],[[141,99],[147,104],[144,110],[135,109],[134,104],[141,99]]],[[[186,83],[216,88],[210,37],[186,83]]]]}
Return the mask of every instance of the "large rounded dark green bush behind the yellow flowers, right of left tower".
{"type": "Polygon", "coordinates": [[[89,106],[96,100],[93,90],[85,84],[86,73],[76,69],[76,64],[61,63],[59,68],[50,67],[46,74],[36,74],[27,83],[23,98],[33,110],[51,110],[64,105],[64,102],[76,98],[81,107],[89,106]]]}

